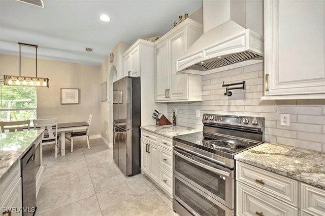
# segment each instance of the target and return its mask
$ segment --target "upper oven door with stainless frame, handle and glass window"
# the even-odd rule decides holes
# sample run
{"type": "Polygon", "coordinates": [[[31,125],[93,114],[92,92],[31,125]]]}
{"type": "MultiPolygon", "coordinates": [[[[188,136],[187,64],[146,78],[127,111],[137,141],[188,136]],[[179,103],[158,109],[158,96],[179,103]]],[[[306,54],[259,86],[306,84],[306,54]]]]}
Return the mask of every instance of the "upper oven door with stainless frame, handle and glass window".
{"type": "Polygon", "coordinates": [[[233,170],[174,148],[173,171],[222,204],[234,209],[233,170]]]}

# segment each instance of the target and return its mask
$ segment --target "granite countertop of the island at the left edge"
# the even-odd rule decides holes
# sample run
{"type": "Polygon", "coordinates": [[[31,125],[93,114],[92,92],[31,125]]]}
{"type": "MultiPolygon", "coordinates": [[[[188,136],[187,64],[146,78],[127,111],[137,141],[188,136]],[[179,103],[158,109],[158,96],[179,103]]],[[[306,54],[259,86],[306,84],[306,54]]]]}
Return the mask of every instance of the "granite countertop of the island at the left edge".
{"type": "Polygon", "coordinates": [[[0,182],[18,163],[20,158],[27,152],[29,147],[43,133],[42,130],[9,132],[0,134],[0,182]]]}

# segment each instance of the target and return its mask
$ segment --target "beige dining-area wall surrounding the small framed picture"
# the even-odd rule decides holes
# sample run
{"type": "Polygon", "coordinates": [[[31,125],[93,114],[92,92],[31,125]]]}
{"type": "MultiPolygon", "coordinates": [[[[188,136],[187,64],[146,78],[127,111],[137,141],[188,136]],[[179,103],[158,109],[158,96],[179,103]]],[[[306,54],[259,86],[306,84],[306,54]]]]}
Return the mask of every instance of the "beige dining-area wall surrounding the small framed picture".
{"type": "MultiPolygon", "coordinates": [[[[58,117],[58,122],[88,121],[90,135],[101,134],[100,66],[38,59],[38,77],[50,79],[49,88],[37,88],[38,118],[58,117]],[[61,105],[60,88],[79,89],[79,104],[61,105]]],[[[19,57],[0,55],[0,75],[19,75],[19,57]]],[[[36,76],[35,58],[21,58],[21,75],[36,76]]]]}

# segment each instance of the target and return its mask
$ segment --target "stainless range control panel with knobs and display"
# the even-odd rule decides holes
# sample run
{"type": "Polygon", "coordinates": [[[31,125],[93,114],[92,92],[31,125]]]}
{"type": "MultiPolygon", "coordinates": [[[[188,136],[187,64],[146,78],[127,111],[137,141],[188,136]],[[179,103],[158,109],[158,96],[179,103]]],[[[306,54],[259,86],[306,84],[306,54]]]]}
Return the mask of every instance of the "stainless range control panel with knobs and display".
{"type": "Polygon", "coordinates": [[[264,126],[264,117],[203,114],[203,124],[225,124],[248,127],[264,126]]]}

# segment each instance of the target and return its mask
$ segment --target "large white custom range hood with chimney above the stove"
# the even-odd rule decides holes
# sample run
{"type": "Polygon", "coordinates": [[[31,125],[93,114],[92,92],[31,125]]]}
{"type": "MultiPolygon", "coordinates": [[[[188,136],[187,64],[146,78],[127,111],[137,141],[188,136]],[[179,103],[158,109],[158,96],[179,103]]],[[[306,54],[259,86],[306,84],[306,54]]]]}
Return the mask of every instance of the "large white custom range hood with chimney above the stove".
{"type": "Polygon", "coordinates": [[[263,62],[263,0],[203,0],[203,30],[177,59],[177,72],[205,75],[263,62]]]}

